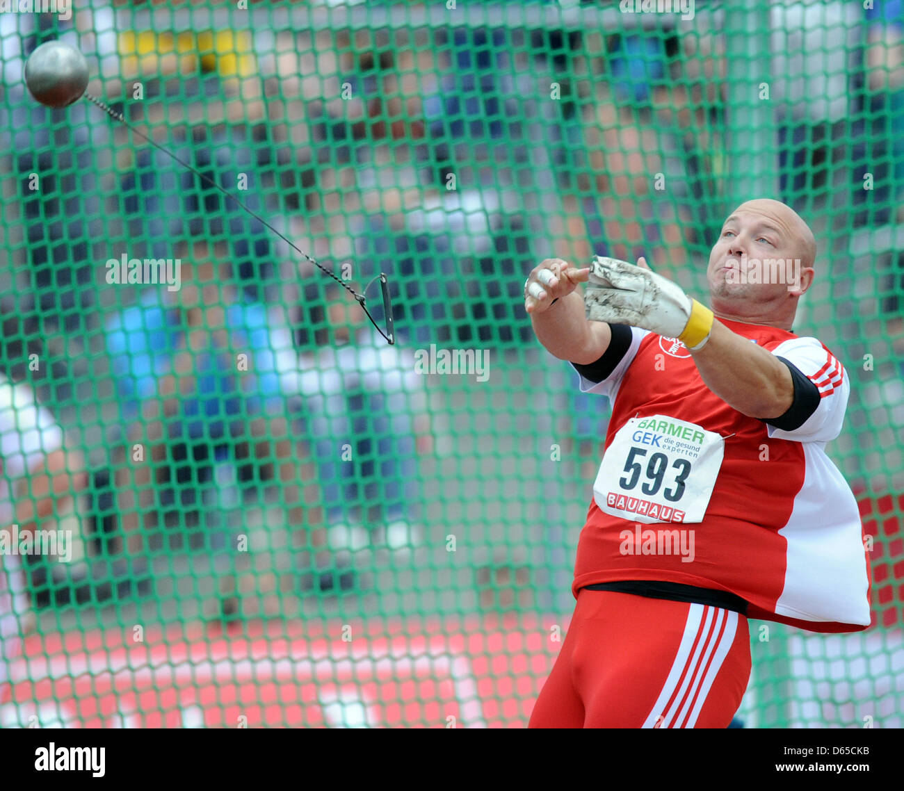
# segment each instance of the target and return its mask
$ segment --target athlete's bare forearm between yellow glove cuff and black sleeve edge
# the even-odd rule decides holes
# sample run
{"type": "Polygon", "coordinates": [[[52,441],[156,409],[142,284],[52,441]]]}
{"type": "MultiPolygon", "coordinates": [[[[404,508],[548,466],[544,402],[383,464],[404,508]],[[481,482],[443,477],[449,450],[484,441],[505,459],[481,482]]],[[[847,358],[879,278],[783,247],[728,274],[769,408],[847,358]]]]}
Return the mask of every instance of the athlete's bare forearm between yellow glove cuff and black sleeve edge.
{"type": "Polygon", "coordinates": [[[718,319],[712,322],[710,340],[699,351],[691,350],[691,356],[706,386],[749,418],[778,418],[794,403],[788,366],[718,319]]]}

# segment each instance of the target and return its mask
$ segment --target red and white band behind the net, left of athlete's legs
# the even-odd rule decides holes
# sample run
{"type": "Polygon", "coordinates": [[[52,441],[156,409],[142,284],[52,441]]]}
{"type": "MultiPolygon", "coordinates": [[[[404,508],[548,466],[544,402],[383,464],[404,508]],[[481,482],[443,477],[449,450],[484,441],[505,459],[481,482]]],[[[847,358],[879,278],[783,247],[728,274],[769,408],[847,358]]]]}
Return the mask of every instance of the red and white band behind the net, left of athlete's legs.
{"type": "Polygon", "coordinates": [[[521,727],[559,652],[547,620],[352,623],[351,641],[338,621],[137,644],[125,629],[32,636],[14,702],[43,726],[521,727]]]}

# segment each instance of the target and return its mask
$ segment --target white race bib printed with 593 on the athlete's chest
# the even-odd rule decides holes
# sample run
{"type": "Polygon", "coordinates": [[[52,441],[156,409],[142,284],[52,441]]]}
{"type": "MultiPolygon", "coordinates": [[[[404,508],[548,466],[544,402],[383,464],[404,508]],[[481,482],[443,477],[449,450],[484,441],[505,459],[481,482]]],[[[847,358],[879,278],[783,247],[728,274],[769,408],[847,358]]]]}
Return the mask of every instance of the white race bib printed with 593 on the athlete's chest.
{"type": "Polygon", "coordinates": [[[600,510],[634,522],[702,522],[724,440],[685,420],[653,415],[619,429],[599,466],[600,510]]]}

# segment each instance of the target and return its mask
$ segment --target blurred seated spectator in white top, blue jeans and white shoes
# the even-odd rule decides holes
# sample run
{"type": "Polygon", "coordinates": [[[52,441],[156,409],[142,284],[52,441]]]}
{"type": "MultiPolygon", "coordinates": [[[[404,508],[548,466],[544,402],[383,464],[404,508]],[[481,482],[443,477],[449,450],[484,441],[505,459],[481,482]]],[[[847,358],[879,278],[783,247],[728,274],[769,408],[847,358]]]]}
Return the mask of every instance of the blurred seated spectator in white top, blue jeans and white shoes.
{"type": "Polygon", "coordinates": [[[337,286],[326,288],[329,333],[305,356],[306,436],[334,548],[419,542],[418,457],[432,452],[426,382],[408,350],[388,344],[337,286]]]}

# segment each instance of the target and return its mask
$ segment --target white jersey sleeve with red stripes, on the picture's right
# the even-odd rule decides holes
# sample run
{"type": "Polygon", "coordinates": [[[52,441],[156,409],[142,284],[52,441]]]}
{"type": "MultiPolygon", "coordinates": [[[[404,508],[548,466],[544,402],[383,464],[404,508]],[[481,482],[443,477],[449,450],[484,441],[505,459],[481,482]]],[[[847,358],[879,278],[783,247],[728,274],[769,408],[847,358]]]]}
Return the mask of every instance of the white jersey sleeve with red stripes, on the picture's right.
{"type": "Polygon", "coordinates": [[[829,442],[836,438],[851,393],[851,382],[842,363],[815,338],[793,338],[778,344],[771,352],[789,364],[795,380],[796,403],[788,412],[799,409],[802,383],[810,391],[810,397],[809,406],[798,419],[790,423],[767,420],[769,437],[797,442],[829,442]]]}

